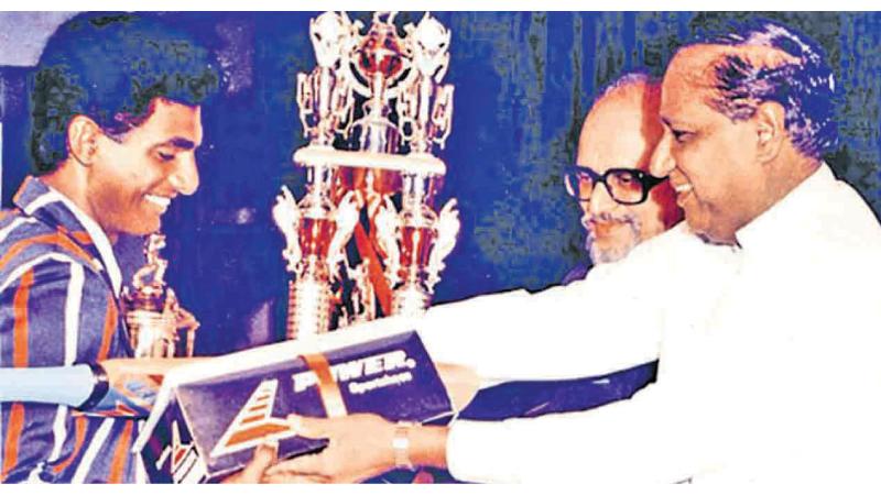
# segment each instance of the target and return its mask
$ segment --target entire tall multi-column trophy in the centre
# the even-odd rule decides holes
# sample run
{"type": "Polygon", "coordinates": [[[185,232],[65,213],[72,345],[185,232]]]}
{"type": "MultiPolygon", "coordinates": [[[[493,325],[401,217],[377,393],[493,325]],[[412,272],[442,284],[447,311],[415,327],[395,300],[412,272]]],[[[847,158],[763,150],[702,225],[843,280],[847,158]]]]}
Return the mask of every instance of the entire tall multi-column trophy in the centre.
{"type": "Polygon", "coordinates": [[[291,273],[290,339],[331,330],[335,312],[339,328],[424,311],[456,244],[455,199],[433,207],[446,174],[434,152],[453,118],[454,88],[442,84],[449,31],[426,13],[401,36],[394,18],[376,13],[366,32],[346,13],[309,23],[317,66],[297,77],[308,144],[293,157],[307,190],[297,201],[282,188],[273,208],[291,273]]]}

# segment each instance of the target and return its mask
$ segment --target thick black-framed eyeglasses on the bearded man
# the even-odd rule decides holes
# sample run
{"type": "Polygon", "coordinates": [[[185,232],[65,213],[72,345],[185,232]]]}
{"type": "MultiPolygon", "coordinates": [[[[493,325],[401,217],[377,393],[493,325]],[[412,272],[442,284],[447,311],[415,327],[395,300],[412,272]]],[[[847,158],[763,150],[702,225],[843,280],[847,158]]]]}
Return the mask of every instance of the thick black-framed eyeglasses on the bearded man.
{"type": "Polygon", "coordinates": [[[609,196],[620,205],[639,205],[649,197],[649,191],[666,177],[655,177],[637,168],[609,168],[598,174],[589,167],[566,167],[566,191],[579,201],[587,201],[597,184],[605,184],[609,196]]]}

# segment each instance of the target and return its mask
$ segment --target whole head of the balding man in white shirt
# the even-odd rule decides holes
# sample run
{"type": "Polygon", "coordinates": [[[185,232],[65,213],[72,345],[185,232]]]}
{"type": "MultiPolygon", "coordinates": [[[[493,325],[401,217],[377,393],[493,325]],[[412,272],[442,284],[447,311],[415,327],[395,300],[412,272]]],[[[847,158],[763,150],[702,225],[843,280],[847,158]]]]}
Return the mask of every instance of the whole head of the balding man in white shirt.
{"type": "Polygon", "coordinates": [[[695,233],[737,243],[816,170],[835,142],[834,86],[819,48],[770,22],[676,53],[652,172],[670,176],[695,233]]]}

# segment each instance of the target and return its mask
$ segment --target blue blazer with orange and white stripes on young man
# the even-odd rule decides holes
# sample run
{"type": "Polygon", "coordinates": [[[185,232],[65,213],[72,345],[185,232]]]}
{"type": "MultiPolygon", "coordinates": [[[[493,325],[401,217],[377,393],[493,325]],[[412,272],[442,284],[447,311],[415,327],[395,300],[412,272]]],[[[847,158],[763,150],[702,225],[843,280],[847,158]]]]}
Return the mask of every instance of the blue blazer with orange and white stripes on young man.
{"type": "MultiPolygon", "coordinates": [[[[17,208],[0,212],[0,366],[132,355],[119,311],[116,258],[106,258],[108,250],[96,245],[97,235],[78,220],[83,213],[65,199],[28,177],[14,197],[17,208]]],[[[142,481],[130,453],[135,420],[83,416],[66,406],[0,406],[0,482],[142,481]]]]}

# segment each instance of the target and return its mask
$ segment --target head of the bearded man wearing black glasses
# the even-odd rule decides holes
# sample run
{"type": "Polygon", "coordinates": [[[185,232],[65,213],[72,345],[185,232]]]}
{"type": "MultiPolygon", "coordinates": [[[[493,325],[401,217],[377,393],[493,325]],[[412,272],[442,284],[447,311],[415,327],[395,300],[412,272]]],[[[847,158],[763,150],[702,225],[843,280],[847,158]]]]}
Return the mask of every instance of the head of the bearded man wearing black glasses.
{"type": "MultiPolygon", "coordinates": [[[[673,188],[648,172],[664,132],[660,105],[661,85],[630,74],[602,92],[581,127],[577,164],[567,167],[565,182],[581,208],[594,264],[619,261],[682,220],[673,188]]],[[[584,278],[587,270],[578,268],[564,284],[584,278]]]]}

